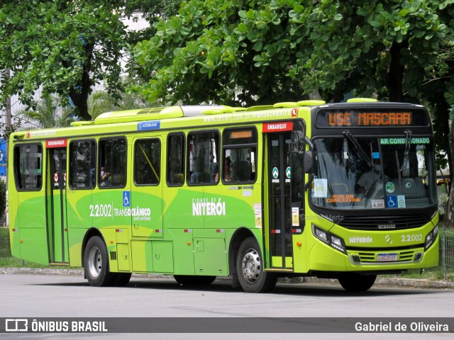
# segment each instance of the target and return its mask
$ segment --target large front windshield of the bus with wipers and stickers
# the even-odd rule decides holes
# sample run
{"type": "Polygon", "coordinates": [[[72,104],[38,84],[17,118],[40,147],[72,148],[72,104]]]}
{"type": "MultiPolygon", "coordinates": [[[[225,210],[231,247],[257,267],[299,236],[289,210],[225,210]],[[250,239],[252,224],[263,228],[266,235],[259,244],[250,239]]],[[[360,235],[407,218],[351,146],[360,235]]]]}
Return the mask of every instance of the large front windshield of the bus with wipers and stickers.
{"type": "Polygon", "coordinates": [[[408,135],[318,138],[311,201],[342,210],[434,205],[432,143],[408,135]]]}

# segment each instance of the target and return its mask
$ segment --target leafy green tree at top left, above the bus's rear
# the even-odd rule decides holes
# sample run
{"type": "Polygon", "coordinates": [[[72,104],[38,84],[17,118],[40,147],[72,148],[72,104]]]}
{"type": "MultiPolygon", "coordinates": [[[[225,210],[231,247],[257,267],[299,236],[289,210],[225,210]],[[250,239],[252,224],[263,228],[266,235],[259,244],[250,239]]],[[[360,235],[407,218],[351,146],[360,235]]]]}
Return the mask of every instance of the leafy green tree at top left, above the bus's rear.
{"type": "Polygon", "coordinates": [[[0,101],[18,94],[35,108],[35,91],[71,100],[82,119],[89,119],[87,98],[104,81],[109,91],[121,89],[119,59],[126,47],[125,26],[118,8],[124,1],[2,1],[0,4],[0,101]]]}

